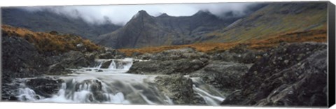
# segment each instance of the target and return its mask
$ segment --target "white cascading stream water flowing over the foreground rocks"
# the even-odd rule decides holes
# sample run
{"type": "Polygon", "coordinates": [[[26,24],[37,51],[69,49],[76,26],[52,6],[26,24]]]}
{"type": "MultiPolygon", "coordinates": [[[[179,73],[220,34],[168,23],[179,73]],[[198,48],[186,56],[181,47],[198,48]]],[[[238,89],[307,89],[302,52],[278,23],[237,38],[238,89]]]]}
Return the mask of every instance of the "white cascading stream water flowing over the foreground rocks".
{"type": "MultiPolygon", "coordinates": [[[[92,68],[74,69],[75,73],[70,75],[55,76],[64,82],[57,94],[51,97],[40,96],[25,85],[18,89],[17,97],[20,101],[32,102],[174,104],[153,85],[157,75],[125,73],[132,64],[133,59],[99,59],[92,68]],[[111,61],[111,64],[102,68],[106,61],[111,61]]],[[[193,87],[194,92],[208,105],[218,106],[223,101],[216,89],[209,88],[200,78],[191,79],[197,84],[193,87]]]]}

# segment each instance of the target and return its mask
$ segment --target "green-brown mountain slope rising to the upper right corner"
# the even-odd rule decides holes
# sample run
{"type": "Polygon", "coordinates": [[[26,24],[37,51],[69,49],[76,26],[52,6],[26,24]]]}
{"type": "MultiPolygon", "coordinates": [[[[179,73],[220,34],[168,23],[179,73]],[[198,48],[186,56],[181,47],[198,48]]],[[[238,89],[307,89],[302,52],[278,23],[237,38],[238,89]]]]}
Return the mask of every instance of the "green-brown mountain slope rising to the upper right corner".
{"type": "Polygon", "coordinates": [[[286,32],[326,29],[326,8],[326,2],[269,3],[207,36],[212,38],[209,42],[242,42],[286,32]]]}

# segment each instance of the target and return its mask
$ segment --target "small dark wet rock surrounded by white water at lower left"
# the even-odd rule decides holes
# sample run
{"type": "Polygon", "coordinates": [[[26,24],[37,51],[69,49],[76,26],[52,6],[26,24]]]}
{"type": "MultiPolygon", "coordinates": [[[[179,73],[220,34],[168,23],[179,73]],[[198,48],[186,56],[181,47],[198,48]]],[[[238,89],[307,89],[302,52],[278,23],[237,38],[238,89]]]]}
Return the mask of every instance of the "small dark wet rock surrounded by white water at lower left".
{"type": "Polygon", "coordinates": [[[52,94],[57,94],[62,85],[62,80],[54,80],[52,78],[36,78],[26,82],[27,87],[33,89],[36,94],[51,97],[52,94]]]}

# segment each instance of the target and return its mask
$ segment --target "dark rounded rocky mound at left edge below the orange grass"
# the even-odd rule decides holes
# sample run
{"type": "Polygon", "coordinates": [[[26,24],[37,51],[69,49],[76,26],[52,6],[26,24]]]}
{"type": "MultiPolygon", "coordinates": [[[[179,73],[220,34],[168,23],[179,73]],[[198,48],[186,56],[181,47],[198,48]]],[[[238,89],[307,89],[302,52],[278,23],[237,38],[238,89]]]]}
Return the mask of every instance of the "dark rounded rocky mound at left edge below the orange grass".
{"type": "Polygon", "coordinates": [[[23,38],[2,36],[2,78],[25,78],[41,75],[48,66],[34,45],[23,38]]]}

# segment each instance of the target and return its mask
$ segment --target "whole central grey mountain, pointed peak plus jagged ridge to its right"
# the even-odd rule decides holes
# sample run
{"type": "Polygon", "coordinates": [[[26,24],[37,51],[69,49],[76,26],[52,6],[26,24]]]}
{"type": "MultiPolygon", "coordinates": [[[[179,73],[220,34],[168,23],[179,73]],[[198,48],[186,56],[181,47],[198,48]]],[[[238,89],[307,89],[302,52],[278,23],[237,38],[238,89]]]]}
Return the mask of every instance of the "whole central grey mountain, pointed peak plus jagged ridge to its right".
{"type": "Polygon", "coordinates": [[[207,11],[185,17],[167,14],[153,17],[140,10],[124,27],[99,36],[96,42],[112,48],[184,45],[195,43],[203,34],[221,29],[231,22],[232,20],[222,20],[207,11]]]}

